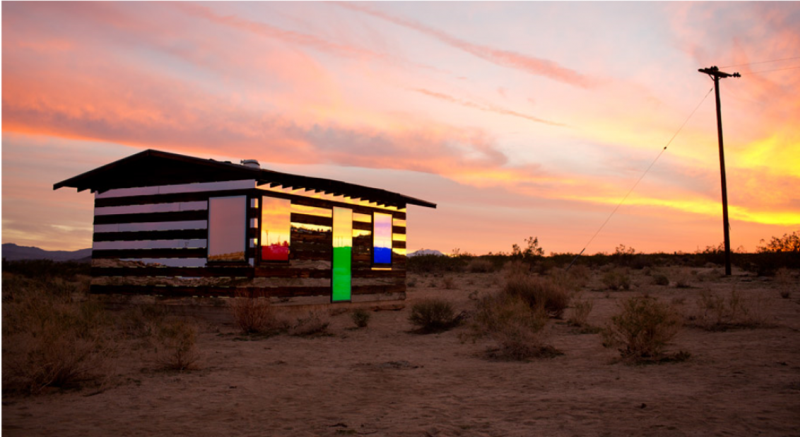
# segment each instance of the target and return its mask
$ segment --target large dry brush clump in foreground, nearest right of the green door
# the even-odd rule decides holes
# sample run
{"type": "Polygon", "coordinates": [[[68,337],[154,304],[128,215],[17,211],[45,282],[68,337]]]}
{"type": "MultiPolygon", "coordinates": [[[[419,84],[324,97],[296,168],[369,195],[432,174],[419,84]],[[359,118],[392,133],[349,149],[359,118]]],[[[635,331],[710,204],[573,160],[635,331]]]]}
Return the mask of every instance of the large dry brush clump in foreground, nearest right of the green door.
{"type": "Polygon", "coordinates": [[[491,358],[553,357],[561,352],[544,342],[543,329],[548,320],[542,307],[531,308],[521,296],[497,293],[476,302],[471,336],[488,336],[497,343],[497,348],[488,351],[491,358]]]}

